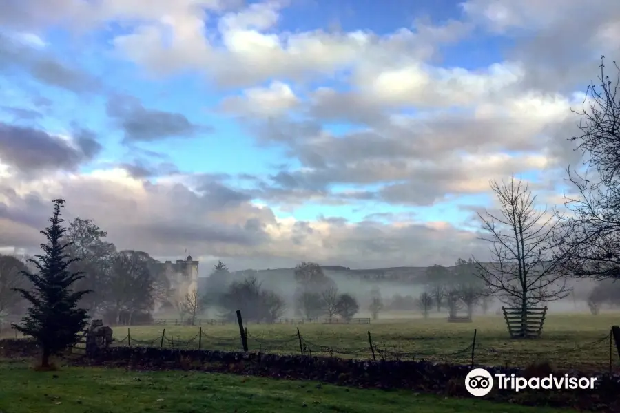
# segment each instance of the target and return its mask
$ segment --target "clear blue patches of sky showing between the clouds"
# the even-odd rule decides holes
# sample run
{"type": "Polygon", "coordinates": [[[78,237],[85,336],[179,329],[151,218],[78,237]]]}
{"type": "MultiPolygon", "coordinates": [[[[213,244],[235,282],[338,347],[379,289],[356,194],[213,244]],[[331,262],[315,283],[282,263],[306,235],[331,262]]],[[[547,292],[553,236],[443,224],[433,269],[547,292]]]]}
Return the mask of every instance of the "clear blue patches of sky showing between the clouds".
{"type": "MultiPolygon", "coordinates": [[[[433,3],[393,1],[378,3],[375,1],[338,2],[301,1],[285,9],[280,17],[278,30],[300,32],[328,28],[338,24],[340,29],[347,31],[364,30],[378,35],[387,35],[397,28],[415,30],[414,21],[424,20],[427,23],[444,24],[449,20],[462,17],[462,9],[458,1],[438,1],[433,3]]],[[[215,25],[215,23],[213,23],[215,25]]],[[[279,147],[260,147],[254,138],[240,126],[234,118],[218,113],[217,105],[224,96],[242,94],[242,90],[229,89],[225,94],[218,92],[214,85],[205,83],[204,78],[195,73],[177,74],[165,79],[154,81],[134,63],[115,57],[110,43],[114,36],[127,33],[119,25],[110,25],[107,30],[95,32],[87,40],[76,40],[65,30],[54,28],[43,34],[48,43],[46,49],[50,54],[63,61],[74,61],[83,70],[94,74],[103,82],[103,89],[116,94],[128,94],[138,97],[149,109],[176,112],[185,115],[190,121],[212,125],[213,133],[198,134],[196,138],[187,140],[166,140],[149,143],[151,151],[161,151],[169,156],[184,172],[194,173],[230,173],[231,175],[247,173],[258,176],[269,176],[276,173],[274,165],[287,164],[289,169],[300,167],[296,158],[286,158],[285,151],[279,147]],[[87,48],[82,47],[87,43],[87,48]],[[79,59],[74,58],[74,53],[79,59]]],[[[439,61],[446,67],[464,67],[468,70],[484,69],[489,63],[501,59],[501,38],[488,38],[477,33],[467,39],[444,47],[439,61]]],[[[28,80],[17,76],[18,82],[27,84],[28,80]]],[[[263,83],[267,85],[268,81],[263,83]]],[[[346,83],[325,81],[335,89],[345,90],[346,83]]],[[[89,96],[87,105],[76,110],[76,99],[70,92],[53,87],[37,85],[42,96],[54,100],[54,108],[50,116],[39,123],[50,131],[61,132],[68,128],[68,123],[75,122],[87,125],[90,129],[100,131],[104,142],[101,160],[132,161],[131,150],[121,145],[123,134],[114,130],[105,114],[105,98],[89,96]],[[103,131],[103,133],[101,133],[103,131]]],[[[23,104],[27,98],[24,98],[23,104]]],[[[32,108],[34,109],[34,108],[32,108]]],[[[411,111],[410,111],[411,112],[411,111]]],[[[6,119],[6,118],[5,118],[6,119]]],[[[335,135],[346,133],[351,127],[346,123],[324,123],[324,129],[335,135]]],[[[145,145],[137,144],[138,147],[145,145]]],[[[99,165],[87,165],[85,171],[99,165]]],[[[240,182],[232,181],[234,184],[240,182]]],[[[338,184],[340,191],[362,189],[360,186],[338,184]]],[[[372,187],[372,186],[371,186],[372,187]]],[[[474,197],[476,202],[484,201],[485,195],[474,197]]],[[[460,211],[452,202],[442,202],[436,207],[395,206],[387,202],[356,202],[346,206],[331,206],[309,202],[283,216],[291,214],[298,220],[313,220],[318,215],[345,216],[353,221],[363,220],[372,211],[402,213],[409,211],[420,220],[447,220],[459,224],[468,216],[460,211]]]]}

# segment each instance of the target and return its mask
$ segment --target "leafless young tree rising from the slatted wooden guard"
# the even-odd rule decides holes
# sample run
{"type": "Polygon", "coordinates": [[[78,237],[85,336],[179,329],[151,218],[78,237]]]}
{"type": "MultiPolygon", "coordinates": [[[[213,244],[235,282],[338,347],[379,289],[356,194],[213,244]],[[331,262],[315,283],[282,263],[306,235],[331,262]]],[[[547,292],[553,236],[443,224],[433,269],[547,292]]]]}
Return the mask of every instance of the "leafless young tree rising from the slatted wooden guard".
{"type": "Polygon", "coordinates": [[[476,260],[477,276],[489,292],[505,303],[518,303],[522,335],[525,335],[528,306],[563,299],[570,294],[552,254],[552,239],[559,227],[557,213],[537,211],[536,196],[521,180],[491,182],[499,201],[499,213],[478,214],[491,244],[490,263],[476,260]]]}

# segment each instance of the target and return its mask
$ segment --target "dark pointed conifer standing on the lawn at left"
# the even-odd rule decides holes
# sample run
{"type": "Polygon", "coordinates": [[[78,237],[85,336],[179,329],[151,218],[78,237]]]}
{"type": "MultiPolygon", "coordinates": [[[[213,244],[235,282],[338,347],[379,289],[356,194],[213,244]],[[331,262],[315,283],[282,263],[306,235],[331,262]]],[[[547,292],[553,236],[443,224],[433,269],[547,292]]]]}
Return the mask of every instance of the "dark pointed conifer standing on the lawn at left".
{"type": "Polygon", "coordinates": [[[71,243],[61,243],[67,231],[61,224],[61,208],[65,200],[54,200],[54,215],[49,219],[50,226],[41,231],[47,244],[41,244],[43,255],[37,260],[30,259],[39,269],[38,274],[22,271],[30,279],[30,291],[16,288],[30,301],[28,313],[21,324],[14,325],[23,335],[34,337],[41,346],[41,367],[50,366],[50,356],[57,354],[75,343],[78,335],[87,326],[86,310],[77,308],[83,295],[90,291],[74,291],[74,282],[83,278],[81,273],[70,273],[68,266],[76,261],[70,260],[65,250],[71,243]]]}

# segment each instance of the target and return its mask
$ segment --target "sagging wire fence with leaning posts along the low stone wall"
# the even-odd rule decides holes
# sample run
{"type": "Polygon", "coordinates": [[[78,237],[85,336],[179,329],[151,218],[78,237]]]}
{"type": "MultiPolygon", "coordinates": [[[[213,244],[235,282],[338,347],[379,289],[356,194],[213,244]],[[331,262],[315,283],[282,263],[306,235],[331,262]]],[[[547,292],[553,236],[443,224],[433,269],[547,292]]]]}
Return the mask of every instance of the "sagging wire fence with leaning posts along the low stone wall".
{"type": "MultiPolygon", "coordinates": [[[[614,346],[612,333],[604,337],[575,346],[563,348],[545,349],[537,348],[536,340],[524,341],[529,344],[528,348],[515,350],[514,348],[500,348],[497,343],[485,342],[484,337],[473,334],[473,340],[461,348],[437,348],[429,337],[413,339],[420,348],[401,349],[394,337],[380,337],[374,339],[371,332],[367,337],[360,337],[358,344],[353,343],[330,343],[337,341],[337,337],[309,337],[305,338],[300,328],[293,330],[290,335],[255,335],[244,330],[243,335],[231,335],[221,337],[205,332],[198,327],[193,335],[181,337],[174,333],[162,330],[160,335],[143,337],[139,339],[132,336],[130,328],[127,335],[122,339],[115,339],[113,346],[130,347],[157,347],[174,349],[200,349],[221,351],[247,351],[273,354],[302,354],[318,357],[340,357],[344,359],[369,359],[369,360],[417,360],[437,361],[443,363],[467,364],[477,366],[504,366],[526,367],[533,362],[548,361],[557,368],[568,368],[581,371],[620,373],[620,359],[614,346]],[[244,337],[242,337],[245,335],[244,337]],[[329,341],[328,341],[329,340],[329,341]]],[[[409,337],[411,341],[411,337],[409,337]]],[[[522,341],[523,342],[523,341],[522,341]]],[[[411,346],[410,346],[411,347],[411,346]]]]}

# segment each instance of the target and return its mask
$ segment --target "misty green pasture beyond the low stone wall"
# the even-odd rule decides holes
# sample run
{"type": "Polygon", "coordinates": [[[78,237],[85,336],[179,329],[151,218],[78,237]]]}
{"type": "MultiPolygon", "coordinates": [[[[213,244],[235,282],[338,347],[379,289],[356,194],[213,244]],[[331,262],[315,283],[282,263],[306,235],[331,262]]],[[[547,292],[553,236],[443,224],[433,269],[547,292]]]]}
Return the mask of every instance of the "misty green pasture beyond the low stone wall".
{"type": "MultiPolygon", "coordinates": [[[[548,315],[543,335],[535,340],[508,338],[502,317],[475,317],[471,324],[448,324],[445,319],[392,319],[373,324],[250,324],[247,326],[249,350],[299,354],[297,327],[304,344],[315,355],[372,357],[368,331],[379,349],[389,350],[391,358],[442,359],[468,363],[471,350],[453,354],[471,345],[477,330],[475,361],[484,365],[526,366],[548,360],[560,368],[606,370],[609,368],[610,326],[620,323],[617,313],[601,315],[548,315]],[[397,353],[397,354],[393,354],[397,353]]],[[[198,326],[132,326],[132,345],[160,346],[165,328],[165,347],[198,348],[198,326]],[[190,341],[194,337],[194,340],[190,341]]],[[[201,348],[240,350],[238,326],[202,326],[201,348]]],[[[114,328],[114,336],[127,336],[126,327],[114,328]]],[[[124,342],[127,344],[127,341],[124,342]]],[[[379,353],[379,352],[378,352],[379,353]]],[[[380,354],[376,354],[380,358],[380,354]]],[[[614,368],[620,368],[612,353],[614,368]]]]}

